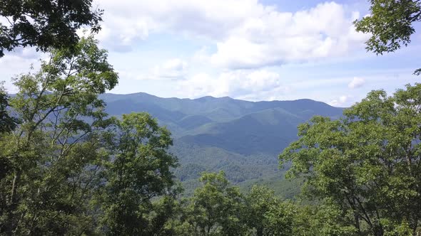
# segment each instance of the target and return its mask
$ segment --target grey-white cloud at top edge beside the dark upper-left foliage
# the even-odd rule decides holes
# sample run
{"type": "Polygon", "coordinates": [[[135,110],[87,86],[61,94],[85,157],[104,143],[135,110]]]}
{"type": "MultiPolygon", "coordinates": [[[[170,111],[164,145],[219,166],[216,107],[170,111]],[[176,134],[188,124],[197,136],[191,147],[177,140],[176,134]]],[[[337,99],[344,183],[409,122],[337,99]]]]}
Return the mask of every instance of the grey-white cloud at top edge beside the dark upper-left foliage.
{"type": "Polygon", "coordinates": [[[257,0],[126,0],[124,4],[98,0],[96,4],[105,9],[103,26],[112,28],[113,38],[126,43],[157,31],[223,38],[244,18],[258,16],[265,8],[257,0]]]}

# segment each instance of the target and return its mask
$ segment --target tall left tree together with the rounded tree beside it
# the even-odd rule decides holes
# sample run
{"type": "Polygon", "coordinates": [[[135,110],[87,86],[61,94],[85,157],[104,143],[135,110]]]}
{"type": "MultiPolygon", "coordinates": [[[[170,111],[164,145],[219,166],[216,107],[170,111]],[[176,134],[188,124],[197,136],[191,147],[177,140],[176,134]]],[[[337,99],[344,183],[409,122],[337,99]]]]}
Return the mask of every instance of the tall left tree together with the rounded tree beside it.
{"type": "Polygon", "coordinates": [[[38,72],[16,77],[9,109],[19,124],[0,134],[0,234],[169,232],[171,134],[145,113],[108,117],[98,95],[118,75],[97,43],[51,50],[38,72]]]}

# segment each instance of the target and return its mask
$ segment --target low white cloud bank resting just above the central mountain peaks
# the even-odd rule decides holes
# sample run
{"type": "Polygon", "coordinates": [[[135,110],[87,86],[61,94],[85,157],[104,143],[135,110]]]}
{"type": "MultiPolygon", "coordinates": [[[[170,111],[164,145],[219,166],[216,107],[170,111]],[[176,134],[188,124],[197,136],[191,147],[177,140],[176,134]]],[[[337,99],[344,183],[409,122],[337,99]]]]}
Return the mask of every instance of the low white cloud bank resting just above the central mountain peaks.
{"type": "Polygon", "coordinates": [[[212,77],[198,73],[180,82],[178,90],[188,97],[211,95],[230,96],[247,100],[273,100],[274,92],[283,93],[287,87],[278,73],[268,70],[231,70],[212,77]]]}

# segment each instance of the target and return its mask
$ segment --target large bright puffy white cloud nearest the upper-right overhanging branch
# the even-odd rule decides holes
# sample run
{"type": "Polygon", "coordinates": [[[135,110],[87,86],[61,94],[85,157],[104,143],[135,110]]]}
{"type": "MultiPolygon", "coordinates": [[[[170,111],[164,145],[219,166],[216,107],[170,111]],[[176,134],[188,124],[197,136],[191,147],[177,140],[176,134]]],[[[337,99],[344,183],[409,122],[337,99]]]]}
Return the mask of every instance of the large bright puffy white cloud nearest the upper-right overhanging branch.
{"type": "Polygon", "coordinates": [[[225,68],[258,68],[347,56],[366,38],[352,26],[356,15],[348,16],[334,2],[295,13],[266,11],[219,41],[211,61],[225,68]]]}

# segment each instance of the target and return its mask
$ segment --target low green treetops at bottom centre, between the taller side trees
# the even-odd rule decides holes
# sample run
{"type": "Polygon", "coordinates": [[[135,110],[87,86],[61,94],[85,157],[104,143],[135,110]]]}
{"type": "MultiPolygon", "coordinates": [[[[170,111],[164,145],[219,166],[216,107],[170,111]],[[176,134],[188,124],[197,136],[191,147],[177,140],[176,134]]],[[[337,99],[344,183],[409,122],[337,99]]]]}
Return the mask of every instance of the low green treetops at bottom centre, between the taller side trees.
{"type": "Polygon", "coordinates": [[[263,186],[243,195],[225,173],[203,173],[203,186],[185,200],[177,235],[294,235],[295,205],[263,186]]]}

